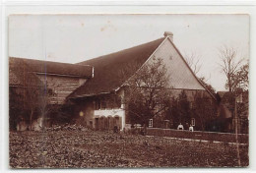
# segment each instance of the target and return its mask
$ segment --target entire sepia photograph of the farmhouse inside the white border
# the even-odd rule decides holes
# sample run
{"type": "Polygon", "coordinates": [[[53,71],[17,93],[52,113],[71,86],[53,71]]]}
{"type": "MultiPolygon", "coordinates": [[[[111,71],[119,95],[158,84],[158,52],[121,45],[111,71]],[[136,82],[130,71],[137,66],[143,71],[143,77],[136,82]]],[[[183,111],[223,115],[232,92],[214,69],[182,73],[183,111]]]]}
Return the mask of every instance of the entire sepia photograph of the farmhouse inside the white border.
{"type": "Polygon", "coordinates": [[[8,17],[9,167],[246,168],[250,16],[8,17]]]}

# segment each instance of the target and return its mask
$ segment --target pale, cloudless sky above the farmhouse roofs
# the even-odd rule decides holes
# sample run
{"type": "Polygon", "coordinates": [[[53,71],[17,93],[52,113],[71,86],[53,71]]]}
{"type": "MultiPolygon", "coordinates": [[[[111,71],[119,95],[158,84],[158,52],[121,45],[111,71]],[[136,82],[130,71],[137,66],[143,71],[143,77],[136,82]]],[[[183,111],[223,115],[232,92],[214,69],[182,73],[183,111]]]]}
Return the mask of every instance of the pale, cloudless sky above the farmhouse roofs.
{"type": "Polygon", "coordinates": [[[233,47],[237,60],[249,59],[249,20],[248,15],[12,15],[9,56],[78,63],[171,31],[182,55],[200,59],[197,76],[226,90],[219,49],[233,47]]]}

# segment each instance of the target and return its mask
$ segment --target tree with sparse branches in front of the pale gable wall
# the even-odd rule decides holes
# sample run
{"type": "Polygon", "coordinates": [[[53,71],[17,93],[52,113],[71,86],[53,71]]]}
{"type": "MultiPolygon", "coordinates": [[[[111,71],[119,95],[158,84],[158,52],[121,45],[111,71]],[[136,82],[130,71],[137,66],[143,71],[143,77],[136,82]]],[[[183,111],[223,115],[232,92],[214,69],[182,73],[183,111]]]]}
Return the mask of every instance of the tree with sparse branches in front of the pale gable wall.
{"type": "Polygon", "coordinates": [[[153,58],[152,62],[144,64],[127,81],[125,103],[134,123],[146,124],[164,111],[170,98],[168,82],[167,69],[160,58],[153,58]]]}

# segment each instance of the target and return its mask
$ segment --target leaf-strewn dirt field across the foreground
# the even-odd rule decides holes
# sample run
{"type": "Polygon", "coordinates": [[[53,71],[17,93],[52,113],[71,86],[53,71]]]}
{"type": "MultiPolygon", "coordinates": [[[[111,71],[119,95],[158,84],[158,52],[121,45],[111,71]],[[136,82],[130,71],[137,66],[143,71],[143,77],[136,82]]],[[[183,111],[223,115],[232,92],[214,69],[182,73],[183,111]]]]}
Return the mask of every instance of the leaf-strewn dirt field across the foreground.
{"type": "MultiPolygon", "coordinates": [[[[249,164],[240,145],[241,166],[249,164]]],[[[233,167],[236,146],[90,130],[10,132],[11,168],[233,167]]]]}

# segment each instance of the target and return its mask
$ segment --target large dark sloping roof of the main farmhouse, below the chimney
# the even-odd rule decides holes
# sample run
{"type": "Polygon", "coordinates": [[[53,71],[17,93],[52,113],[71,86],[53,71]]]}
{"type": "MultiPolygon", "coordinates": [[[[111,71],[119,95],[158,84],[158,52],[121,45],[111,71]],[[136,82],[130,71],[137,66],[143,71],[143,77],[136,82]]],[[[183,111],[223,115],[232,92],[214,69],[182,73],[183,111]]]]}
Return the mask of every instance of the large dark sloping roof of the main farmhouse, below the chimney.
{"type": "Polygon", "coordinates": [[[121,87],[149,59],[164,38],[79,63],[94,66],[94,78],[74,90],[69,98],[106,93],[121,87]],[[133,68],[127,70],[128,67],[133,68]],[[123,72],[125,75],[120,76],[123,72]]]}

